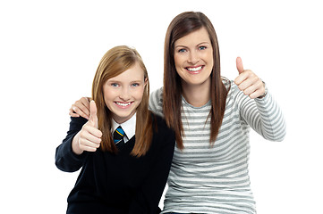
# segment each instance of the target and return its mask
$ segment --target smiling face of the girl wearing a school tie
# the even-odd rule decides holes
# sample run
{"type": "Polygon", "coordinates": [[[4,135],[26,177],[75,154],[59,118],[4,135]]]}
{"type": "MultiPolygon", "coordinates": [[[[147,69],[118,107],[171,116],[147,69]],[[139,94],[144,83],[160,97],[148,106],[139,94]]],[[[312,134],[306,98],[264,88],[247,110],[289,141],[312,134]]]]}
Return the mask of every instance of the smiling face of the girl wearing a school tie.
{"type": "Polygon", "coordinates": [[[147,84],[139,63],[115,78],[109,78],[103,86],[106,107],[117,123],[131,119],[141,102],[147,84]]]}

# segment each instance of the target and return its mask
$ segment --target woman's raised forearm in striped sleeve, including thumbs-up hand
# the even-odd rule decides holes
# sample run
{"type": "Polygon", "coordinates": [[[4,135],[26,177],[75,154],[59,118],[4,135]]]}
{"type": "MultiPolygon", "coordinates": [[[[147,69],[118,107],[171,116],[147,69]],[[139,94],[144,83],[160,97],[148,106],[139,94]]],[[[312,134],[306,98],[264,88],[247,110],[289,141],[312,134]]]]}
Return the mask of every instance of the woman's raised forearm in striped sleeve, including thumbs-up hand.
{"type": "Polygon", "coordinates": [[[265,83],[251,70],[244,70],[242,59],[236,59],[239,76],[234,83],[241,118],[265,139],[282,141],[285,137],[285,119],[278,104],[268,94],[265,83]],[[238,90],[237,88],[235,88],[238,90]]]}

